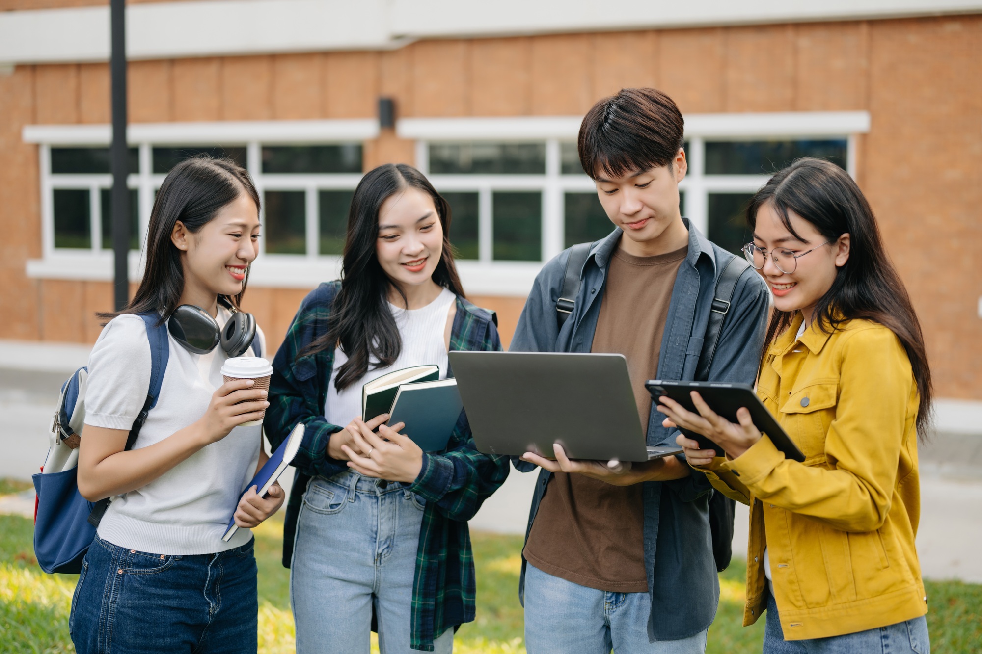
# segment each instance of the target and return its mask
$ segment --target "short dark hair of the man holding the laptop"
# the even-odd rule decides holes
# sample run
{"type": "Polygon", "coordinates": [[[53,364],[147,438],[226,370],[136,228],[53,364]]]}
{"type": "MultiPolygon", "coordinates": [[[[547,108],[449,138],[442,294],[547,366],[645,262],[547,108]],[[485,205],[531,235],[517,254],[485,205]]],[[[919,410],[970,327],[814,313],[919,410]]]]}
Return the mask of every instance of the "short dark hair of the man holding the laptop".
{"type": "Polygon", "coordinates": [[[576,146],[593,179],[669,165],[684,142],[685,122],[675,101],[657,88],[622,88],[586,113],[576,146]]]}

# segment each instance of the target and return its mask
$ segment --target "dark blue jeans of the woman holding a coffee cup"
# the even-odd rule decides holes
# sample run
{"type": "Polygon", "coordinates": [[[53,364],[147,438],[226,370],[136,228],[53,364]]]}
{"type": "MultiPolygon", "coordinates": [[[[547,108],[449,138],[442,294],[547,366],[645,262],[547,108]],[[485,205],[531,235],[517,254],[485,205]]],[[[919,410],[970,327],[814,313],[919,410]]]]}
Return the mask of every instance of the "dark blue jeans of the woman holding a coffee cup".
{"type": "Polygon", "coordinates": [[[252,543],[217,554],[164,556],[96,536],[72,598],[68,625],[76,651],[255,652],[252,543]]]}

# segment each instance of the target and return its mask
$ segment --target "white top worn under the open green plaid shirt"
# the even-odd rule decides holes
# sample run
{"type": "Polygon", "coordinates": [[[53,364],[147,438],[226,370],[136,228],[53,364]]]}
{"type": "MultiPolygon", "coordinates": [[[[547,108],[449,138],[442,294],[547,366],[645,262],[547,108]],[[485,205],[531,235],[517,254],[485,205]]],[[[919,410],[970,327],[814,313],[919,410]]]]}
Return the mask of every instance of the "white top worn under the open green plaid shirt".
{"type": "MultiPolygon", "coordinates": [[[[396,319],[403,345],[399,356],[388,367],[373,370],[369,366],[368,372],[361,379],[348,385],[340,393],[334,382],[338,378],[338,369],[348,360],[348,356],[340,348],[335,348],[334,370],[327,390],[327,400],[324,402],[324,417],[327,421],[342,427],[348,426],[355,416],[361,415],[361,387],[388,372],[413,365],[433,364],[440,366],[440,379],[446,379],[448,358],[443,335],[447,327],[447,315],[456,300],[457,296],[453,292],[443,289],[436,300],[417,309],[407,310],[390,302],[389,310],[396,319]]],[[[378,362],[375,358],[370,361],[378,362]]]]}

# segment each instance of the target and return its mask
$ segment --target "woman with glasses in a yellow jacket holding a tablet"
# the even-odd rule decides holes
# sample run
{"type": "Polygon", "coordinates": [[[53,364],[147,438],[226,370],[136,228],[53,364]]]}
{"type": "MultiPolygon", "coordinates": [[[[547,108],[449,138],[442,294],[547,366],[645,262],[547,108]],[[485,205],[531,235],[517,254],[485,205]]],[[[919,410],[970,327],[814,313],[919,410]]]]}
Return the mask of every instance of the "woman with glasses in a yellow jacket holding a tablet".
{"type": "Polygon", "coordinates": [[[766,610],[765,654],[930,651],[914,536],[917,435],[931,403],[920,325],[872,210],[838,166],[800,159],[750,202],[743,251],[774,296],[757,395],[805,456],[662,398],[688,462],[750,506],[743,623],[766,610]]]}

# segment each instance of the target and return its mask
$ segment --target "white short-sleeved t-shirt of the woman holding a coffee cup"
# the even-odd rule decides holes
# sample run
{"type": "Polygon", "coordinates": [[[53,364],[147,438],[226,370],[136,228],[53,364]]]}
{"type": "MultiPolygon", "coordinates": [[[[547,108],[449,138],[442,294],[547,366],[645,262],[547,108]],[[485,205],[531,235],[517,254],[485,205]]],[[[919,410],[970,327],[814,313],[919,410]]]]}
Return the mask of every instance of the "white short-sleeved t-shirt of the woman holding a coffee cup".
{"type": "MultiPolygon", "coordinates": [[[[220,309],[219,325],[228,318],[229,312],[220,309]]],[[[197,421],[223,383],[221,367],[228,355],[221,345],[208,354],[192,354],[170,334],[167,338],[170,355],[160,396],[147,414],[135,450],[197,421]]],[[[261,332],[258,338],[265,353],[261,332]]],[[[129,430],[149,386],[150,344],[143,319],[117,316],[102,330],[88,357],[85,424],[129,430]]],[[[236,427],[145,486],[114,497],[99,523],[99,537],[120,547],[166,555],[211,554],[245,545],[252,537],[249,529],[239,529],[228,543],[222,542],[222,534],[255,474],[261,439],[262,425],[236,427]]]]}

